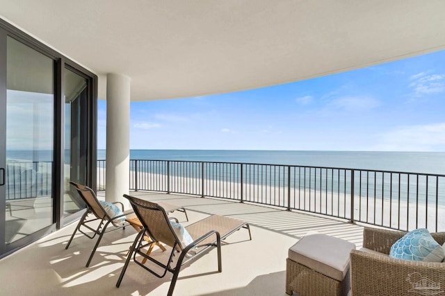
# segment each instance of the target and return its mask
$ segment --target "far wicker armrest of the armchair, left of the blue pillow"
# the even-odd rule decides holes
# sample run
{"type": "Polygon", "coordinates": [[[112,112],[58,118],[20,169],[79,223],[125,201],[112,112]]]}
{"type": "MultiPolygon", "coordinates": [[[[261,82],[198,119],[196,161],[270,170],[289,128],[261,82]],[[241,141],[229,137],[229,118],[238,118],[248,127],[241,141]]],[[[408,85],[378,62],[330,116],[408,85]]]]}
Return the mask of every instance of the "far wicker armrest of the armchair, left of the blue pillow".
{"type": "Polygon", "coordinates": [[[389,254],[391,246],[405,234],[406,232],[395,230],[364,227],[363,247],[383,254],[389,254]]]}

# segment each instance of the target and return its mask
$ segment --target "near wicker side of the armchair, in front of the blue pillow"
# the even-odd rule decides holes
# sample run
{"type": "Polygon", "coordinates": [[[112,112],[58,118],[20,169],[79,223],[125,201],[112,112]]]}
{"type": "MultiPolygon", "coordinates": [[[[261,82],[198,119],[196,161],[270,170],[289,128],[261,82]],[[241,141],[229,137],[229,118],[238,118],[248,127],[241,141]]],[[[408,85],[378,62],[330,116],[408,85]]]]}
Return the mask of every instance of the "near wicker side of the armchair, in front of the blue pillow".
{"type": "MultiPolygon", "coordinates": [[[[350,253],[352,294],[411,295],[417,290],[445,290],[445,263],[393,259],[359,250],[350,253]],[[440,285],[440,286],[439,286],[440,285]],[[440,287],[437,290],[437,287],[440,287]]],[[[414,293],[416,294],[416,293],[414,293]]]]}

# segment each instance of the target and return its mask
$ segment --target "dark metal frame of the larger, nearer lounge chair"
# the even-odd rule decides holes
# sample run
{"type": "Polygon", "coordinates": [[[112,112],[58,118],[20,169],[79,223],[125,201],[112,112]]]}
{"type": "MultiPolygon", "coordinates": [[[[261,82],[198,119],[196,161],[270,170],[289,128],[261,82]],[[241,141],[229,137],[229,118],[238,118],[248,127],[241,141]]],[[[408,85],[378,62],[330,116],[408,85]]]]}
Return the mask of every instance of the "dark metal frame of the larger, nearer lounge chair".
{"type": "MultiPolygon", "coordinates": [[[[124,195],[125,198],[127,198],[131,206],[133,207],[133,210],[138,216],[140,222],[143,224],[143,229],[139,232],[138,236],[136,236],[135,241],[133,242],[133,245],[131,246],[131,251],[129,256],[127,257],[127,261],[125,261],[124,267],[122,268],[122,272],[120,273],[120,277],[118,279],[118,282],[116,283],[116,287],[119,288],[122,279],[124,277],[125,271],[127,270],[127,267],[129,265],[129,261],[131,260],[131,255],[133,255],[133,261],[136,262],[138,265],[140,265],[142,268],[147,270],[148,272],[152,273],[152,275],[155,275],[156,277],[162,278],[164,277],[167,272],[172,272],[173,277],[172,281],[170,283],[170,288],[168,289],[168,296],[171,296],[173,293],[173,290],[175,289],[175,285],[177,282],[177,278],[179,276],[179,271],[181,270],[181,266],[187,263],[188,261],[195,259],[196,256],[199,256],[200,254],[203,254],[204,250],[209,249],[210,247],[216,247],[218,250],[218,272],[222,272],[222,263],[221,263],[221,240],[229,236],[229,234],[232,234],[234,231],[241,229],[241,227],[247,228],[249,231],[250,239],[252,239],[252,236],[250,235],[250,227],[248,223],[243,223],[240,225],[237,229],[234,229],[232,232],[229,232],[225,234],[224,237],[221,237],[220,233],[216,230],[212,230],[210,232],[207,232],[206,234],[203,234],[200,236],[200,238],[197,238],[193,243],[190,245],[181,245],[181,242],[179,241],[179,238],[177,237],[175,231],[173,230],[172,226],[169,223],[169,218],[167,216],[167,213],[165,212],[165,209],[161,207],[159,204],[156,204],[154,202],[148,202],[146,200],[140,200],[138,198],[135,198],[130,195],[124,195]],[[142,249],[145,247],[149,247],[150,245],[159,242],[158,235],[152,231],[156,225],[152,225],[153,229],[150,229],[150,225],[147,225],[146,221],[143,218],[143,214],[141,214],[142,211],[157,211],[161,212],[161,215],[163,216],[163,222],[165,225],[168,225],[168,230],[170,233],[167,234],[168,237],[166,238],[168,241],[163,241],[163,243],[170,245],[172,247],[172,251],[170,253],[170,256],[168,258],[168,263],[160,262],[152,256],[148,256],[142,249]],[[144,240],[144,234],[147,233],[150,238],[152,238],[152,242],[147,243],[147,241],[144,240]],[[202,243],[204,240],[211,236],[216,236],[216,240],[211,241],[211,243],[202,243]],[[199,250],[195,252],[195,254],[188,253],[190,250],[192,250],[194,247],[199,247],[199,250]],[[172,266],[172,259],[173,256],[175,256],[175,253],[179,252],[179,259],[176,263],[176,265],[172,266]],[[140,255],[143,258],[143,261],[138,261],[136,255],[140,255]],[[186,258],[186,255],[188,255],[188,258],[186,258]],[[143,264],[146,260],[151,261],[152,263],[155,263],[156,265],[159,265],[159,267],[163,268],[163,272],[156,272],[152,270],[151,268],[147,267],[143,264]]],[[[198,221],[197,223],[200,223],[198,221]]],[[[165,226],[164,226],[165,227],[165,226]]]]}

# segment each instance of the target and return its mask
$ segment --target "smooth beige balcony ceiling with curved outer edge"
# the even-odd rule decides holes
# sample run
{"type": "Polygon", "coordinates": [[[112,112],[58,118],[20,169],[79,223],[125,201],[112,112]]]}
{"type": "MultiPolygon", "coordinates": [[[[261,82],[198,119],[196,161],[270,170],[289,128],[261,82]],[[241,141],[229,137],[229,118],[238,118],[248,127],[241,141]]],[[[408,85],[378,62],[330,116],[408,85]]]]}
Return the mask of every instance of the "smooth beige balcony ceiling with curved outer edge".
{"type": "Polygon", "coordinates": [[[445,49],[442,0],[1,0],[0,16],[131,100],[304,80],[445,49]]]}

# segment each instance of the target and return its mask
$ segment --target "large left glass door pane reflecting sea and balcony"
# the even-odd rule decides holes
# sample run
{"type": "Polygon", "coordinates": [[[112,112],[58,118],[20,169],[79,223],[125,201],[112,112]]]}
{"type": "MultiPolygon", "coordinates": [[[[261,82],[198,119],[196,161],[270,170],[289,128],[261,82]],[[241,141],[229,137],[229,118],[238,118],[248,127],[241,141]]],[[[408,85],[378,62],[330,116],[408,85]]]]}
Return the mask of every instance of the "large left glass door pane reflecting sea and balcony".
{"type": "Polygon", "coordinates": [[[6,245],[54,223],[54,61],[7,39],[6,245]]]}

